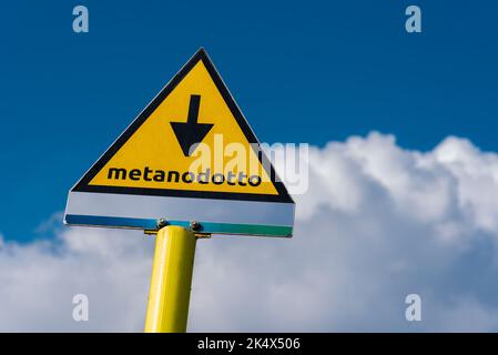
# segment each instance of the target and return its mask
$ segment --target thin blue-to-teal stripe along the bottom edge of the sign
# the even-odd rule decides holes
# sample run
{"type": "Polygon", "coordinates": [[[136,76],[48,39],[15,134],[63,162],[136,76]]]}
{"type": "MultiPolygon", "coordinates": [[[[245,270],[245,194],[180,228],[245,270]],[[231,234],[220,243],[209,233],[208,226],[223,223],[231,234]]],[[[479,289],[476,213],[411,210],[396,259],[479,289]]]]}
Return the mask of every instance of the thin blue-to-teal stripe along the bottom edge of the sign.
{"type": "MultiPolygon", "coordinates": [[[[67,214],[64,222],[73,225],[92,225],[105,227],[155,230],[156,220],[150,219],[126,219],[112,216],[95,216],[67,214]]],[[[166,221],[167,225],[179,225],[190,227],[190,221],[166,221]]],[[[243,234],[243,235],[267,235],[291,237],[293,229],[286,225],[257,225],[257,224],[233,224],[233,223],[213,223],[200,222],[201,233],[213,234],[243,234]]]]}

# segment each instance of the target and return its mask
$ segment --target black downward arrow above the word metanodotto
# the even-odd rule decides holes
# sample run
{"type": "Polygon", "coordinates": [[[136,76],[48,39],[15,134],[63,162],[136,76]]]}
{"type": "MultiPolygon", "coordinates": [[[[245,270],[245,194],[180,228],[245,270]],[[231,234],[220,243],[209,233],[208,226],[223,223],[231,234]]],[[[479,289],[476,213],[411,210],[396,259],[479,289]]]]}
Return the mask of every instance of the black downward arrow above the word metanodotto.
{"type": "MultiPolygon", "coordinates": [[[[176,140],[182,148],[183,154],[190,156],[191,146],[201,143],[207,132],[214,124],[197,123],[199,106],[201,105],[201,95],[191,95],[189,104],[189,116],[185,122],[171,122],[176,140]]],[[[193,152],[193,150],[192,150],[193,152]]]]}

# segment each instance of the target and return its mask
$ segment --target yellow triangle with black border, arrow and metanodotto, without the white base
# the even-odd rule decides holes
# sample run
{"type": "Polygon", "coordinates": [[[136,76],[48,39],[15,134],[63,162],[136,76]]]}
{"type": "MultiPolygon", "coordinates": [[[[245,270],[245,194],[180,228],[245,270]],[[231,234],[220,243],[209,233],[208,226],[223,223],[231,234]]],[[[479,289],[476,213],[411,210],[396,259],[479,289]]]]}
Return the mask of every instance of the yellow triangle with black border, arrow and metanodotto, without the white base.
{"type": "Polygon", "coordinates": [[[202,49],[75,191],[289,201],[202,49]]]}

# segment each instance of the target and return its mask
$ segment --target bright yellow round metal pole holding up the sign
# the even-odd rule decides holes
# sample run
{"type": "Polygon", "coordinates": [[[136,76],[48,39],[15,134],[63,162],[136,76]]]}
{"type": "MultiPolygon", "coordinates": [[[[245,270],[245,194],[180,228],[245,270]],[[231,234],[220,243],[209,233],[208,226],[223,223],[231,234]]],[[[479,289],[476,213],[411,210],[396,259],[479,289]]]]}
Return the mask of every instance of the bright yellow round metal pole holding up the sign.
{"type": "Polygon", "coordinates": [[[169,225],[157,232],[145,333],[184,333],[195,255],[195,234],[169,225]]]}

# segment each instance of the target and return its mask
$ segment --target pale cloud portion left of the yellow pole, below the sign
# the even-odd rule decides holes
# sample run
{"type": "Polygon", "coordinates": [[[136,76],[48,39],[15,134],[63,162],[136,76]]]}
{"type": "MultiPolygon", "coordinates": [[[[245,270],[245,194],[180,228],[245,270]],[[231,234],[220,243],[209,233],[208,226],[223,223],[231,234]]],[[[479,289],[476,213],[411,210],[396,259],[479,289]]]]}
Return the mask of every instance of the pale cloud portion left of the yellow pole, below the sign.
{"type": "Polygon", "coordinates": [[[0,243],[0,331],[139,331],[152,246],[136,232],[96,229],[0,243]],[[89,296],[88,323],[72,318],[79,293],[89,296]]]}

